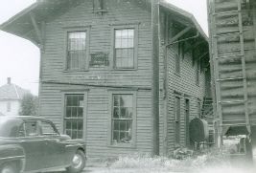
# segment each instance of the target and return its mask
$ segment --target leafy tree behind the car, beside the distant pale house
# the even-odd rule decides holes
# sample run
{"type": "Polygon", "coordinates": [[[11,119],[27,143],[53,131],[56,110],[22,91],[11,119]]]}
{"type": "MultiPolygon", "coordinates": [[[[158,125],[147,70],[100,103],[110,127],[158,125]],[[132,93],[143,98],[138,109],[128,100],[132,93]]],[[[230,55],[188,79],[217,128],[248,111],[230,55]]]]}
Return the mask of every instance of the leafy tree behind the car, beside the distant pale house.
{"type": "Polygon", "coordinates": [[[38,114],[38,97],[31,93],[24,95],[20,103],[20,116],[36,116],[38,114]]]}

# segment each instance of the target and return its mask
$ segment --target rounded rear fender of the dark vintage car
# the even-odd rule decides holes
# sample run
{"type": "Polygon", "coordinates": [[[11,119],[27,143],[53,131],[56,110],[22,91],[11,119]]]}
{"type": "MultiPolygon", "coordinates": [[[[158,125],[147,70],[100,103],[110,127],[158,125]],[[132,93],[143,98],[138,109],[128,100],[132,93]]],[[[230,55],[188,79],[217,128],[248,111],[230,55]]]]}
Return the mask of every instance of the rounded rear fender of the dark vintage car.
{"type": "Polygon", "coordinates": [[[25,152],[18,144],[0,145],[0,165],[5,162],[17,162],[21,171],[25,166],[25,152]]]}

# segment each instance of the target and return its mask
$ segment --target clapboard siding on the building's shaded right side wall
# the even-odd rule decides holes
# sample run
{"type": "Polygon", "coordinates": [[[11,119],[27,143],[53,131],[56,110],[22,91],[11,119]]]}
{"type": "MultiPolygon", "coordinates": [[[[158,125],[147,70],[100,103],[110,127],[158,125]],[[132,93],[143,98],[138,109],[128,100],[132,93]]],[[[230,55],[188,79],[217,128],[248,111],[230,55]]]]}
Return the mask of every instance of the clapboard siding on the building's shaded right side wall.
{"type": "Polygon", "coordinates": [[[186,146],[185,98],[190,100],[190,119],[199,116],[198,100],[202,105],[205,96],[205,75],[201,71],[199,84],[196,82],[196,64],[193,65],[192,53],[180,57],[180,74],[175,74],[175,54],[177,45],[167,51],[168,64],[168,115],[167,115],[167,146],[170,155],[175,149],[175,97],[180,97],[180,145],[186,146]]]}

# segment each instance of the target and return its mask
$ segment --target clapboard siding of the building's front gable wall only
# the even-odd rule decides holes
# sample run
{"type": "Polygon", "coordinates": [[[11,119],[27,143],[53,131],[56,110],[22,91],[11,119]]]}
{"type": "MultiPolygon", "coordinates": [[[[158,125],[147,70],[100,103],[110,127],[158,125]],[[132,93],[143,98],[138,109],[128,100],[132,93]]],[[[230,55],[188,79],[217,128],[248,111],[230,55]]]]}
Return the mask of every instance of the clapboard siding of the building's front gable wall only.
{"type": "MultiPolygon", "coordinates": [[[[92,1],[71,8],[52,21],[46,22],[45,48],[42,54],[42,81],[40,84],[40,115],[53,119],[62,129],[63,94],[66,91],[87,93],[85,141],[87,154],[92,157],[117,156],[132,152],[151,153],[151,13],[131,1],[106,1],[104,15],[93,13],[92,1]],[[65,27],[89,26],[90,54],[110,54],[111,25],[138,25],[138,69],[117,71],[111,67],[89,68],[87,72],[65,72],[65,27]],[[53,83],[45,83],[52,81],[53,83]],[[56,83],[55,83],[56,82],[56,83]],[[99,87],[58,84],[59,82],[86,83],[99,87]],[[108,87],[130,86],[146,88],[136,92],[136,144],[134,148],[108,146],[109,96],[108,87]]],[[[75,27],[74,27],[75,28],[75,27]]],[[[85,103],[86,104],[86,103],[85,103]]]]}

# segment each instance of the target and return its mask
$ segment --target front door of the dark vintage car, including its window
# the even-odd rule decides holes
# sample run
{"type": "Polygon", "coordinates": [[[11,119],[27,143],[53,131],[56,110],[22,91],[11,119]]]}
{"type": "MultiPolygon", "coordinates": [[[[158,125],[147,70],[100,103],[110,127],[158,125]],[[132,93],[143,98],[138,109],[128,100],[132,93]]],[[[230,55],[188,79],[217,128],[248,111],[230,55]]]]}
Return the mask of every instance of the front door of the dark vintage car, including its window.
{"type": "Polygon", "coordinates": [[[46,143],[45,162],[49,167],[64,165],[65,144],[60,141],[60,135],[51,121],[41,120],[40,128],[46,143]]]}

